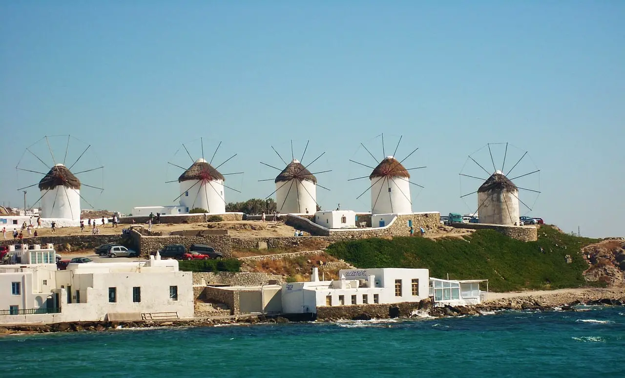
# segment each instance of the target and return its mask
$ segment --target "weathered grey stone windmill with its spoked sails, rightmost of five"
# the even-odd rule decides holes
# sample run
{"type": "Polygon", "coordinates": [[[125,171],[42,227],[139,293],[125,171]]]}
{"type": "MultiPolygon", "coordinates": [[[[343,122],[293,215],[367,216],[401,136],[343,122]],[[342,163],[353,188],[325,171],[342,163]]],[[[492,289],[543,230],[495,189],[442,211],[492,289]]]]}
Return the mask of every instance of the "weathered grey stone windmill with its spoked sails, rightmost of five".
{"type": "MultiPolygon", "coordinates": [[[[477,189],[477,191],[471,192],[469,194],[464,194],[461,198],[471,196],[472,194],[477,193],[477,210],[472,213],[478,217],[479,223],[486,224],[501,224],[504,226],[517,226],[520,223],[519,215],[521,214],[521,208],[519,202],[527,207],[531,211],[531,208],[525,204],[525,202],[519,199],[519,189],[522,191],[540,193],[540,191],[534,189],[527,189],[525,187],[518,187],[512,180],[520,179],[521,177],[531,176],[532,174],[536,174],[540,172],[540,169],[536,169],[532,172],[521,174],[516,177],[512,177],[509,179],[507,176],[512,172],[512,170],[519,165],[519,163],[523,160],[527,155],[527,151],[521,156],[521,158],[512,166],[512,168],[504,174],[504,167],[506,165],[506,157],[508,154],[508,143],[505,143],[505,151],[503,154],[503,162],[501,164],[501,169],[497,169],[495,164],[495,159],[492,156],[491,147],[494,146],[503,146],[504,143],[488,143],[486,146],[488,148],[489,156],[491,157],[492,162],[492,172],[489,172],[482,164],[477,162],[479,158],[472,157],[469,155],[467,161],[470,159],[474,162],[482,171],[486,172],[488,175],[486,179],[483,177],[477,177],[475,175],[469,175],[464,173],[465,167],[460,172],[461,177],[469,177],[471,179],[479,179],[482,181],[481,186],[477,189]]],[[[474,155],[477,152],[482,151],[481,149],[474,152],[474,155]]],[[[486,164],[484,164],[486,165],[486,164]]],[[[474,167],[474,166],[473,166],[474,167]]],[[[462,190],[462,182],[461,182],[461,190],[462,190]]],[[[535,201],[534,201],[535,202],[535,201]]]]}

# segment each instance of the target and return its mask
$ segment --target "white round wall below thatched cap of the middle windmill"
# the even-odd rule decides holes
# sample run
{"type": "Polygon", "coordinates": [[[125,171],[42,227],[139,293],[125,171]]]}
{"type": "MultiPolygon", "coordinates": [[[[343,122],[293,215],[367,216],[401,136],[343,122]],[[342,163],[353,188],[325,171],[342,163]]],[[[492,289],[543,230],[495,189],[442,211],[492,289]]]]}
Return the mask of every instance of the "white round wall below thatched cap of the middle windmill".
{"type": "Polygon", "coordinates": [[[278,181],[276,189],[276,206],[279,213],[306,214],[307,210],[308,214],[314,214],[317,211],[317,186],[314,182],[297,179],[278,181]]]}

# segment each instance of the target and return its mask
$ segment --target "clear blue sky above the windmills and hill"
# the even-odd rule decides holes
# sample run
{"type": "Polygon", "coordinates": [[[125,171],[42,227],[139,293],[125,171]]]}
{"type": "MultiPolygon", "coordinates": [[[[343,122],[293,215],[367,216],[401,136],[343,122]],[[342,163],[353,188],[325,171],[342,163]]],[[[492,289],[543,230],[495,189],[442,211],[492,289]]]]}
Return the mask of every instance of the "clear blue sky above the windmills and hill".
{"type": "Polygon", "coordinates": [[[624,19],[621,1],[2,2],[0,201],[22,203],[16,189],[40,178],[15,167],[46,134],[92,145],[85,166],[102,162],[105,191],[84,196],[122,212],[173,203],[167,162],[183,143],[237,153],[219,170],[245,172],[227,180],[241,201],[274,190],[257,182],[277,174],[259,161],[282,166],[269,146],[286,159],[309,139],[304,163],[326,151],[311,170],[332,169],[321,206],[367,211],[355,197],[369,184],[347,179],[370,170],[348,160],[374,164],[360,142],[381,159],[384,132],[386,154],[400,135],[398,157],[420,147],[405,164],[427,166],[414,211],[476,208],[459,198],[467,155],[510,142],[541,169],[522,212],[622,236],[624,19]]]}

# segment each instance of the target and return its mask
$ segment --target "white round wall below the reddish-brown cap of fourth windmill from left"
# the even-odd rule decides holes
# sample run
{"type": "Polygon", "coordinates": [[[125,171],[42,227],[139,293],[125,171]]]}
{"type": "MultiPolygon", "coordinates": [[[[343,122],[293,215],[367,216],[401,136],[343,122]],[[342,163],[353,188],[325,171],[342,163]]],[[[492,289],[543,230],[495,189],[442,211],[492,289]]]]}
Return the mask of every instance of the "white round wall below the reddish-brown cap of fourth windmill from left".
{"type": "Polygon", "coordinates": [[[410,183],[402,177],[373,177],[371,180],[371,213],[412,212],[410,183]],[[390,192],[389,192],[390,189],[390,192]]]}

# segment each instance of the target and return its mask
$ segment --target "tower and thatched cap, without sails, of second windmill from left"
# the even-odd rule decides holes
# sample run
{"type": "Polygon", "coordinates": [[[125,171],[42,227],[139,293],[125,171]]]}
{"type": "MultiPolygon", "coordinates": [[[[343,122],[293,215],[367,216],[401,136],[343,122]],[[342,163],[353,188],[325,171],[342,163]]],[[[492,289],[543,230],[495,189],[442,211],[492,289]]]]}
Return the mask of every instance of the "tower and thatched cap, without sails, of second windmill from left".
{"type": "Polygon", "coordinates": [[[189,169],[178,177],[180,183],[180,206],[186,212],[205,209],[210,214],[226,212],[224,176],[204,159],[197,159],[189,169]]]}

